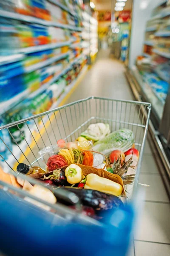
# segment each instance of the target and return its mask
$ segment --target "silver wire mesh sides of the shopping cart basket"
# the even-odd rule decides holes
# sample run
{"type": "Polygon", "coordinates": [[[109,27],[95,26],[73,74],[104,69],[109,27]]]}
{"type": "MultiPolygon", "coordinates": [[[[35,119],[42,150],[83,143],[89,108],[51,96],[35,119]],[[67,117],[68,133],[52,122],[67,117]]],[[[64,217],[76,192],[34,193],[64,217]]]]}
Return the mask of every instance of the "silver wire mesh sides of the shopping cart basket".
{"type": "MultiPolygon", "coordinates": [[[[0,163],[6,172],[16,171],[18,163],[26,163],[29,166],[41,166],[44,168],[38,151],[49,145],[56,145],[57,140],[61,138],[67,142],[74,141],[90,124],[104,122],[110,125],[111,131],[116,131],[120,128],[128,128],[133,131],[135,146],[140,152],[134,189],[139,177],[150,109],[150,103],[145,102],[89,97],[8,124],[1,127],[0,130],[1,132],[4,130],[8,132],[11,137],[12,148],[9,148],[3,137],[0,137],[1,142],[9,153],[8,158],[0,155],[2,160],[0,163]],[[14,127],[22,137],[20,144],[17,143],[12,133],[11,128],[14,127]]],[[[12,173],[17,175],[16,172],[12,173]]],[[[20,177],[23,177],[23,175],[20,175],[20,177]]],[[[30,180],[29,177],[24,176],[24,178],[30,180]]],[[[6,184],[7,188],[12,189],[6,184]]]]}

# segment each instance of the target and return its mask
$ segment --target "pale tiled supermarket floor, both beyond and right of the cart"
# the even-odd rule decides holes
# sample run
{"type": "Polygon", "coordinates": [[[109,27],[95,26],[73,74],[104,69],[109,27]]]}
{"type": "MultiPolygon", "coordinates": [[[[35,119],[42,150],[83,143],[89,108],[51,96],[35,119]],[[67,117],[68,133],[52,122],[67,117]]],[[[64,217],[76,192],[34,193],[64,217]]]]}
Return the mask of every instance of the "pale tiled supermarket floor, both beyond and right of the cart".
{"type": "MultiPolygon", "coordinates": [[[[88,96],[133,100],[124,71],[124,65],[110,58],[108,51],[100,51],[96,63],[85,74],[67,103],[88,96]]],[[[170,201],[159,175],[155,157],[147,142],[139,183],[150,186],[145,189],[144,209],[139,223],[136,224],[134,242],[128,256],[170,255],[170,201]]]]}

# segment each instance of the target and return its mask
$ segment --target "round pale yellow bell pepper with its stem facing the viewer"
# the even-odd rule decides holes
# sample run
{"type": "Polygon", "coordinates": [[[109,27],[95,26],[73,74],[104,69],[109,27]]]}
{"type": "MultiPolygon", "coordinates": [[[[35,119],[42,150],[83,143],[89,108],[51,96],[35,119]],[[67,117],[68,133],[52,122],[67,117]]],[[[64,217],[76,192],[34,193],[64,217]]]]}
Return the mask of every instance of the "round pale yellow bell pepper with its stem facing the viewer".
{"type": "Polygon", "coordinates": [[[82,180],[82,169],[77,164],[72,163],[65,169],[65,176],[68,183],[79,183],[82,180]]]}

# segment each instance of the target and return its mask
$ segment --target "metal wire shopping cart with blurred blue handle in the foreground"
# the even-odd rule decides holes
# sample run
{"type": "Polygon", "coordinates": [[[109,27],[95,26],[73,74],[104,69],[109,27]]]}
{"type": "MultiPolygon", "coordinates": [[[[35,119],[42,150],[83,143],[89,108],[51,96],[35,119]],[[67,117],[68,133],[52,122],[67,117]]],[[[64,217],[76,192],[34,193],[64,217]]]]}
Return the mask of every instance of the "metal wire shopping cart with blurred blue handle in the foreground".
{"type": "MultiPolygon", "coordinates": [[[[104,122],[110,125],[111,131],[120,128],[128,128],[133,131],[135,145],[140,152],[136,178],[130,189],[130,197],[134,197],[142,163],[150,110],[150,104],[145,102],[89,97],[2,126],[0,130],[6,130],[13,142],[11,149],[6,141],[0,137],[9,151],[8,159],[0,155],[3,169],[17,177],[16,167],[18,163],[43,168],[41,158],[38,157],[38,151],[49,145],[55,145],[57,140],[61,138],[67,142],[74,141],[90,124],[104,122]],[[17,143],[12,132],[14,129],[11,128],[15,128],[20,134],[22,138],[20,144],[17,143]]],[[[40,183],[28,176],[19,175],[33,184],[40,183]]],[[[40,184],[42,185],[42,183],[40,184]]],[[[74,193],[56,189],[55,195],[74,204],[76,210],[59,203],[49,204],[30,195],[27,191],[0,180],[0,207],[2,209],[0,211],[0,233],[3,234],[5,230],[0,239],[0,246],[8,255],[14,255],[12,254],[12,245],[17,255],[30,255],[30,253],[31,255],[37,253],[52,255],[55,248],[48,247],[47,250],[47,244],[55,241],[62,246],[62,250],[57,249],[58,255],[65,255],[66,253],[69,255],[73,253],[76,255],[86,255],[87,253],[90,255],[103,255],[103,253],[109,255],[111,252],[113,253],[113,250],[114,253],[119,252],[120,256],[125,255],[133,224],[132,207],[127,205],[125,208],[119,209],[118,212],[113,212],[113,215],[116,214],[115,220],[116,216],[122,216],[121,211],[124,218],[122,218],[119,227],[111,224],[108,226],[108,224],[82,215],[79,198],[74,193]],[[49,206],[51,212],[24,201],[23,198],[25,197],[49,206]],[[128,223],[128,225],[123,225],[123,223],[128,223]],[[18,243],[16,234],[22,240],[19,247],[15,244],[18,243]],[[10,247],[7,239],[12,243],[10,247]],[[65,246],[63,241],[65,243],[67,241],[69,248],[65,246]],[[86,246],[87,242],[88,246],[86,246]],[[100,249],[98,248],[99,244],[102,244],[100,249]],[[83,250],[82,246],[84,246],[83,250]]]]}

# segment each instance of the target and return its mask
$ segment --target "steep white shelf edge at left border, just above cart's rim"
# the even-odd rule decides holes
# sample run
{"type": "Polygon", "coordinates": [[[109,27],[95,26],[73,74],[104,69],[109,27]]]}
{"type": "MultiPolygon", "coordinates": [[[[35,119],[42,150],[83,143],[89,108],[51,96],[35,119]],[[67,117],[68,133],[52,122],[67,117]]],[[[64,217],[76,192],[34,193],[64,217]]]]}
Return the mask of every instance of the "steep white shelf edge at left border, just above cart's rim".
{"type": "Polygon", "coordinates": [[[19,93],[16,96],[14,96],[13,98],[0,103],[0,115],[14,107],[16,105],[16,102],[21,102],[23,99],[25,99],[29,93],[30,90],[26,89],[22,93],[19,93]]]}

